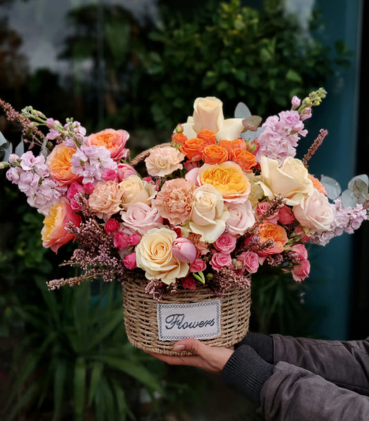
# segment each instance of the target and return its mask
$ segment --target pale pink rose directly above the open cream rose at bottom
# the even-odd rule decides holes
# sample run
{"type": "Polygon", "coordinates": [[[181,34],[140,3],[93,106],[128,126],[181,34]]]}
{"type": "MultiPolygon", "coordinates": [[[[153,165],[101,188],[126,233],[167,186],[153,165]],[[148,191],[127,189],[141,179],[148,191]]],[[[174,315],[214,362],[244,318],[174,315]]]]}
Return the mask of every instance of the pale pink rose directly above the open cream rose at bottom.
{"type": "Polygon", "coordinates": [[[120,212],[120,216],[124,226],[141,235],[163,225],[163,218],[159,214],[159,210],[140,202],[129,206],[127,211],[120,212]]]}

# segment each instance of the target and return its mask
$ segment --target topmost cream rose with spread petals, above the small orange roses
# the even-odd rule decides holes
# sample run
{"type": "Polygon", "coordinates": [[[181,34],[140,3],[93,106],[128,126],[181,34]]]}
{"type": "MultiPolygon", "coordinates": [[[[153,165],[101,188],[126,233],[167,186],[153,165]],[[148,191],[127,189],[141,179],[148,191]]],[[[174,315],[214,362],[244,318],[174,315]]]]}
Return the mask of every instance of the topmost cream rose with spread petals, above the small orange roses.
{"type": "Polygon", "coordinates": [[[189,117],[187,123],[183,124],[183,134],[187,138],[197,137],[201,129],[213,130],[217,141],[240,137],[244,130],[242,118],[228,118],[224,120],[223,102],[213,96],[206,98],[196,98],[194,102],[194,113],[189,117]]]}

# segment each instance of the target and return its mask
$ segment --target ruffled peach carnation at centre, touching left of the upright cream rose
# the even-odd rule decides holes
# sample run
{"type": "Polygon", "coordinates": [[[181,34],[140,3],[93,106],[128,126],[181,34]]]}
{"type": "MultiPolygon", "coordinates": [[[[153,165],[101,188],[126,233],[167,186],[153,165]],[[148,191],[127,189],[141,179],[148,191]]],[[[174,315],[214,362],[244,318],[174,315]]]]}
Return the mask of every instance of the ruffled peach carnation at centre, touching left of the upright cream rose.
{"type": "Polygon", "coordinates": [[[170,224],[183,224],[190,217],[194,201],[195,183],[185,179],[165,181],[156,195],[154,206],[170,224]]]}

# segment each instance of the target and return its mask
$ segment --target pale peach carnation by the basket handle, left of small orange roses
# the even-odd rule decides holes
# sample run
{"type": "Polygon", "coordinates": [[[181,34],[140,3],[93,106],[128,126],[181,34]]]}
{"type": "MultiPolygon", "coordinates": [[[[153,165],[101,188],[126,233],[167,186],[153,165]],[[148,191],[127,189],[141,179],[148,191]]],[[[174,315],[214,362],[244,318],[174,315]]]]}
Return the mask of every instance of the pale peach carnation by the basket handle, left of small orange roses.
{"type": "Polygon", "coordinates": [[[146,169],[152,177],[165,177],[175,170],[181,170],[185,156],[172,146],[156,147],[145,159],[146,169]]]}

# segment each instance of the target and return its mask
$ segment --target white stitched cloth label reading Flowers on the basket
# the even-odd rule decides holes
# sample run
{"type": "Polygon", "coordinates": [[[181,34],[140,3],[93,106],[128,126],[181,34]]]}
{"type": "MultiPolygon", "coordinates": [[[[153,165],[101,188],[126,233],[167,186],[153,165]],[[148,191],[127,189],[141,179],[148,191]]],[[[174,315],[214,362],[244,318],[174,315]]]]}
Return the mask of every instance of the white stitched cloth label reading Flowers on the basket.
{"type": "Polygon", "coordinates": [[[158,304],[159,339],[210,339],[220,334],[220,300],[189,304],[158,304]]]}

